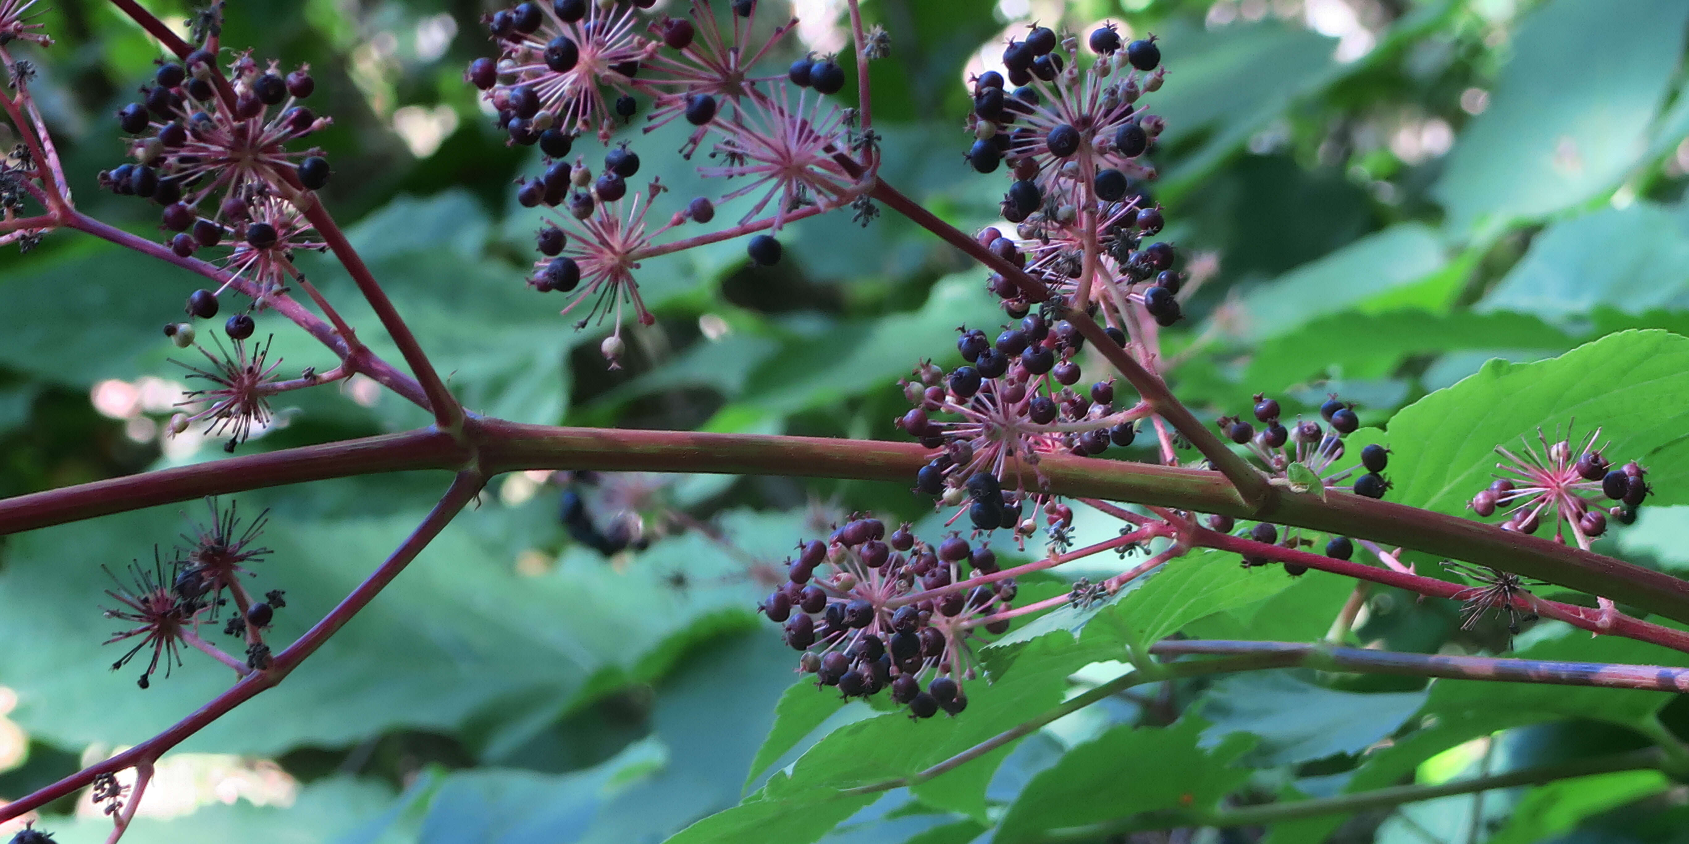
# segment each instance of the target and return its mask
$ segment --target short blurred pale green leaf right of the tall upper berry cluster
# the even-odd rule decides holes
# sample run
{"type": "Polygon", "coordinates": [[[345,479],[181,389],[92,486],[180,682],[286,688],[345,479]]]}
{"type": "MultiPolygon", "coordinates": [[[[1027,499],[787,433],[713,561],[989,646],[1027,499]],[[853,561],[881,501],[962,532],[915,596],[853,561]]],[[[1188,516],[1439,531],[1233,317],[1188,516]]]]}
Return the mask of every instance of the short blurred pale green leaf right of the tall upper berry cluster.
{"type": "Polygon", "coordinates": [[[1429,228],[1398,223],[1250,290],[1240,304],[1241,336],[1258,343],[1289,334],[1314,317],[1410,285],[1446,262],[1429,228]]]}

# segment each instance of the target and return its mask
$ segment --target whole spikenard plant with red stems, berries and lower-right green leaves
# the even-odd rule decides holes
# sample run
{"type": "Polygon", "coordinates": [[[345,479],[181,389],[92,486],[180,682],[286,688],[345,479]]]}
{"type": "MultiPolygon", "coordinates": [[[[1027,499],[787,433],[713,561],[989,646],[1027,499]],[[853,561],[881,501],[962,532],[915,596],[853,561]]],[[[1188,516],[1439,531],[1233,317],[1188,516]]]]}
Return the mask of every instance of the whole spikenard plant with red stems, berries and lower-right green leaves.
{"type": "MultiPolygon", "coordinates": [[[[866,728],[841,728],[741,807],[682,832],[686,841],[745,841],[736,836],[790,817],[804,817],[802,834],[812,839],[880,792],[905,787],[978,830],[998,824],[998,841],[1088,841],[1333,815],[1589,773],[1689,773],[1689,749],[1655,721],[1652,746],[1620,756],[1441,790],[1368,790],[1356,780],[1361,787],[1348,793],[1302,798],[1257,787],[1257,798],[1240,805],[1231,795],[1245,788],[1245,775],[1228,765],[1243,748],[1198,749],[1187,729],[1192,714],[1074,749],[1007,810],[986,812],[978,793],[927,790],[954,783],[954,775],[937,780],[949,771],[988,775],[1000,748],[1132,687],[1159,684],[1157,706],[1165,709],[1176,680],[1226,672],[1304,667],[1635,695],[1689,689],[1689,670],[1664,665],[1689,652],[1681,630],[1689,584],[1591,550],[1596,538],[1635,522],[1652,493],[1638,463],[1647,456],[1616,449],[1589,427],[1633,407],[1589,407],[1583,419],[1508,434],[1522,441],[1485,444],[1498,454],[1493,483],[1437,491],[1469,496],[1463,517],[1392,503],[1392,476],[1419,471],[1405,459],[1437,459],[1412,425],[1363,429],[1355,403],[1339,395],[1317,415],[1292,415],[1277,397],[1255,395],[1253,407],[1203,419],[1169,390],[1162,373],[1179,349],[1164,346],[1162,331],[1184,319],[1199,284],[1181,270],[1181,250],[1159,240],[1167,219],[1155,201],[1154,159],[1165,120],[1155,98],[1177,84],[1162,66],[1164,51],[1177,57],[1177,44],[1127,37],[1115,24],[1089,32],[1030,25],[1005,44],[1000,69],[968,81],[973,108],[958,145],[978,179],[1002,186],[1003,221],[968,233],[882,179],[870,66],[888,54],[895,32],[865,27],[855,0],[848,52],[807,54],[790,66],[765,59],[789,54],[785,39],[797,22],[770,24],[777,12],[758,0],[692,0],[684,14],[652,10],[652,0],[535,0],[485,19],[490,56],[468,66],[464,83],[497,113],[510,145],[544,155],[544,169],[515,189],[522,206],[544,209],[546,223],[534,235],[532,270],[510,284],[556,307],[557,331],[603,331],[608,368],[623,363],[623,331],[655,319],[640,294],[642,263],[664,255],[736,240],[750,263],[772,267],[784,258],[780,235],[797,221],[872,226],[893,213],[978,263],[980,295],[1000,302],[1003,321],[961,326],[963,363],[948,371],[910,361],[902,383],[909,410],[897,427],[912,442],[882,442],[547,427],[466,408],[407,327],[402,300],[388,297],[395,280],[372,273],[319,203],[316,191],[333,177],[333,164],[311,147],[311,135],[331,116],[314,110],[309,69],[220,44],[221,3],[196,19],[191,41],[133,0],[111,5],[144,27],[162,56],[138,100],[115,115],[122,150],[111,159],[122,152],[123,164],[103,170],[100,186],[152,203],[164,238],[78,209],[30,96],[37,59],[20,56],[24,42],[49,46],[49,34],[29,17],[32,3],[3,2],[0,59],[10,88],[0,106],[19,138],[0,170],[5,240],[29,248],[61,230],[79,231],[201,277],[201,289],[184,290],[186,316],[157,316],[196,383],[169,429],[203,430],[236,456],[15,496],[0,501],[0,530],[208,501],[179,542],[159,537],[128,565],[105,560],[101,609],[111,626],[111,667],[140,689],[181,672],[230,670],[235,682],[164,733],[0,807],[0,820],[93,788],[115,822],[115,841],[145,800],[160,755],[301,668],[402,577],[491,478],[529,469],[900,481],[941,515],[942,528],[924,535],[853,513],[790,537],[796,550],[767,577],[758,611],[780,628],[767,635],[784,636],[796,652],[804,679],[797,692],[865,699],[887,714],[866,728]],[[645,133],[669,123],[691,127],[689,135],[679,149],[655,149],[645,133]],[[696,164],[720,192],[687,196],[645,179],[642,159],[669,155],[696,164]],[[296,257],[306,252],[331,255],[355,280],[402,366],[377,356],[301,272],[296,257]],[[270,353],[272,338],[255,327],[253,316],[263,312],[294,322],[338,365],[285,368],[270,353]],[[353,376],[427,410],[432,424],[238,456],[248,436],[272,422],[279,395],[353,376]],[[1108,457],[1133,446],[1137,459],[1108,457]],[[267,517],[238,510],[235,496],[407,469],[454,478],[410,537],[333,611],[294,641],[275,641],[272,621],[287,608],[287,584],[265,565],[267,517]],[[1108,520],[1111,538],[1076,547],[1078,518],[1108,520]],[[1405,562],[1412,554],[1442,565],[1417,571],[1405,562]],[[1079,560],[1088,572],[1108,574],[1064,577],[1062,567],[1079,560]],[[1328,640],[1181,635],[1203,616],[1299,577],[1356,581],[1328,640]],[[1454,603],[1468,626],[1493,618],[1518,635],[1554,619],[1599,641],[1635,640],[1662,665],[1343,647],[1373,584],[1454,603]],[[1540,594],[1549,584],[1561,599],[1540,594]],[[203,665],[196,650],[221,668],[203,665]],[[1094,663],[1123,668],[1064,701],[1066,679],[1094,663]],[[870,739],[900,748],[897,758],[850,755],[853,741],[870,739]],[[1100,773],[1093,797],[1057,793],[1057,780],[1108,770],[1106,760],[1084,753],[1110,756],[1137,771],[1130,778],[1140,788],[1165,793],[1118,809],[1121,787],[1100,773]],[[1145,758],[1167,758],[1169,770],[1149,775],[1145,758]],[[1091,765],[1091,773],[1062,768],[1069,763],[1091,765]],[[118,785],[120,773],[133,785],[118,785]]],[[[566,501],[562,520],[583,544],[615,552],[638,540],[640,525],[598,525],[578,496],[566,501]]],[[[983,792],[985,780],[976,780],[975,792],[983,792]]],[[[1388,776],[1375,785],[1388,785],[1388,776]]],[[[782,832],[780,841],[796,836],[782,832]]],[[[30,829],[14,841],[41,844],[46,836],[30,829]]]]}

